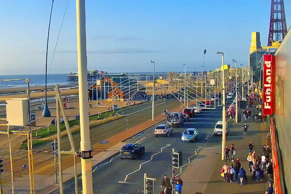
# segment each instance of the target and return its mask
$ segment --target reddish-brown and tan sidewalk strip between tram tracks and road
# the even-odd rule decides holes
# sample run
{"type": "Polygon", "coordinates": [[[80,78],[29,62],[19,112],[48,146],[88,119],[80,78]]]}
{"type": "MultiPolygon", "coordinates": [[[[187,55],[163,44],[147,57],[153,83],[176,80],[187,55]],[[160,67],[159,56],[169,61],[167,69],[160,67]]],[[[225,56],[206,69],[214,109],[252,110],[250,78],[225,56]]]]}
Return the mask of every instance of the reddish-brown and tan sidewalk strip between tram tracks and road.
{"type": "MultiPolygon", "coordinates": [[[[178,112],[180,111],[180,106],[171,109],[171,112],[178,112]]],[[[114,135],[108,139],[105,139],[105,141],[108,141],[109,143],[107,144],[100,144],[97,143],[93,145],[93,150],[94,153],[97,151],[95,155],[93,155],[92,158],[92,166],[103,162],[107,158],[110,158],[111,156],[119,153],[119,150],[121,147],[125,144],[122,141],[125,139],[128,139],[144,130],[147,128],[154,126],[161,121],[165,119],[164,116],[158,115],[154,118],[154,121],[147,120],[141,124],[138,124],[135,127],[132,127],[128,129],[127,131],[123,131],[117,135],[114,135]]],[[[73,161],[72,158],[69,156],[66,158],[66,161],[63,161],[63,165],[66,165],[64,163],[69,163],[70,161],[73,161]]],[[[80,160],[77,159],[77,172],[78,174],[81,173],[81,163],[80,160]]],[[[47,168],[47,170],[52,170],[53,171],[53,166],[47,168]]],[[[58,169],[57,169],[58,170],[58,169]]],[[[45,173],[42,173],[45,174],[45,173]]],[[[68,181],[69,179],[74,177],[74,166],[71,166],[70,168],[63,170],[63,181],[68,181]]],[[[55,176],[47,176],[47,175],[34,175],[35,178],[35,190],[36,193],[41,193],[41,194],[48,194],[51,193],[52,191],[55,191],[56,189],[59,188],[59,184],[55,184],[55,176]]],[[[58,181],[59,181],[59,175],[58,175],[58,181]]],[[[5,186],[2,186],[3,188],[3,193],[12,193],[11,189],[11,183],[7,184],[5,186]]],[[[14,193],[30,193],[30,185],[29,185],[29,176],[25,175],[23,177],[16,178],[14,181],[14,193]]]]}

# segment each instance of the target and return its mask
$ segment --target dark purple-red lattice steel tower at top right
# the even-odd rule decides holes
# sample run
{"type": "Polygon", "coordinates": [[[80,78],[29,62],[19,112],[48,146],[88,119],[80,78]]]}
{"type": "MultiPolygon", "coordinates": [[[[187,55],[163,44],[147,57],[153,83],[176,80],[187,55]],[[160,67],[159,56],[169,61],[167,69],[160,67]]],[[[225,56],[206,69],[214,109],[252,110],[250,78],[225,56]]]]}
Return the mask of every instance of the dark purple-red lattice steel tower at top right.
{"type": "Polygon", "coordinates": [[[287,34],[287,25],[284,9],[284,0],[271,0],[271,17],[268,46],[272,46],[273,41],[282,42],[287,34]]]}

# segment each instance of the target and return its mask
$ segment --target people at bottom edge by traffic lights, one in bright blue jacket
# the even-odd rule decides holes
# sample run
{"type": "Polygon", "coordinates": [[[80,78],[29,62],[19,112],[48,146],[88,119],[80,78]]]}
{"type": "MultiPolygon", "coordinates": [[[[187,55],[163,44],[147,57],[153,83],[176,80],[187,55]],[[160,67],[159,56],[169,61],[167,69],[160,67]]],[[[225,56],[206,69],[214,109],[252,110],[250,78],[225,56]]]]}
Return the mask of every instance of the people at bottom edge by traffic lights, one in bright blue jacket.
{"type": "MultiPolygon", "coordinates": [[[[176,194],[181,194],[183,181],[181,180],[180,176],[176,177],[173,185],[174,185],[174,190],[176,191],[176,194]]],[[[166,174],[164,175],[164,179],[162,182],[162,188],[163,188],[163,190],[160,192],[160,194],[172,194],[173,187],[172,187],[170,179],[167,177],[166,174]]]]}

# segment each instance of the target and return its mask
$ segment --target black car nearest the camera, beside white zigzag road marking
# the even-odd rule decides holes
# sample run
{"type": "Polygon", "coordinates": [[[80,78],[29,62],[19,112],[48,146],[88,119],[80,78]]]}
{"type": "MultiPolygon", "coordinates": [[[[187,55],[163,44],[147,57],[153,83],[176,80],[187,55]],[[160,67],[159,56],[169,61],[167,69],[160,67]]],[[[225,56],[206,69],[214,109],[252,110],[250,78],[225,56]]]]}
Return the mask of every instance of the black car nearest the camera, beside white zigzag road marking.
{"type": "Polygon", "coordinates": [[[145,153],[145,146],[140,143],[127,143],[120,150],[120,158],[136,159],[145,153]]]}

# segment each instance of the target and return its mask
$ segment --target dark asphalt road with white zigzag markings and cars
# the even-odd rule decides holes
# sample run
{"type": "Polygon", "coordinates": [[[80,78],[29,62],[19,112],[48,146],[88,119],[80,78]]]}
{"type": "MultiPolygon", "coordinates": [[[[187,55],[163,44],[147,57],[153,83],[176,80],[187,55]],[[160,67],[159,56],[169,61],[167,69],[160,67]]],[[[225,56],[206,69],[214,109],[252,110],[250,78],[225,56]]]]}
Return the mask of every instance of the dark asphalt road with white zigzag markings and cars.
{"type": "MultiPolygon", "coordinates": [[[[205,110],[200,114],[196,114],[195,118],[190,118],[190,122],[185,123],[181,128],[174,128],[174,133],[168,138],[155,137],[153,133],[154,127],[152,127],[142,134],[128,139],[126,141],[127,143],[139,141],[138,143],[145,145],[145,154],[137,160],[122,160],[117,155],[114,158],[108,158],[108,160],[103,163],[94,166],[92,168],[93,192],[100,194],[143,193],[144,173],[148,173],[148,177],[157,179],[157,181],[154,182],[154,193],[160,192],[161,188],[159,185],[161,185],[164,174],[167,174],[168,177],[172,177],[172,148],[183,151],[184,165],[189,162],[188,160],[191,162],[195,158],[203,158],[203,155],[199,155],[199,150],[207,146],[207,142],[210,138],[212,144],[220,144],[221,137],[213,136],[212,134],[216,122],[222,120],[221,111],[222,107],[217,107],[215,110],[205,110]],[[181,133],[187,128],[198,129],[199,136],[195,143],[181,141],[181,133]],[[162,151],[161,148],[163,148],[162,151]]],[[[182,168],[182,172],[186,168],[187,165],[182,168]]],[[[180,173],[180,169],[176,170],[175,175],[178,173],[180,173]]],[[[80,179],[78,179],[78,185],[79,191],[81,191],[80,179]]],[[[74,192],[74,179],[64,183],[64,193],[74,192]]],[[[53,193],[57,194],[59,190],[53,193]]]]}

